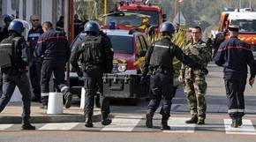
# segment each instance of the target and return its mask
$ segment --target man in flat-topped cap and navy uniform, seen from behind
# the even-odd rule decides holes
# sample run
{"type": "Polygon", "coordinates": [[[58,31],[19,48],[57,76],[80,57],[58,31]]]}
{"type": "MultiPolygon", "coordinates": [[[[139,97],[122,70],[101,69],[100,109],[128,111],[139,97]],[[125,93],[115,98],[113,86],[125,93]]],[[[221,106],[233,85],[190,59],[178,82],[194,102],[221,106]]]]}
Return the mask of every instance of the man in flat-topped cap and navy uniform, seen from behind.
{"type": "Polygon", "coordinates": [[[223,67],[228,113],[232,119],[231,127],[235,128],[242,125],[242,117],[245,116],[247,65],[251,72],[251,86],[255,77],[252,49],[237,38],[238,30],[239,26],[229,26],[230,39],[222,42],[214,57],[215,64],[223,67]]]}

